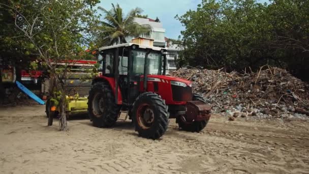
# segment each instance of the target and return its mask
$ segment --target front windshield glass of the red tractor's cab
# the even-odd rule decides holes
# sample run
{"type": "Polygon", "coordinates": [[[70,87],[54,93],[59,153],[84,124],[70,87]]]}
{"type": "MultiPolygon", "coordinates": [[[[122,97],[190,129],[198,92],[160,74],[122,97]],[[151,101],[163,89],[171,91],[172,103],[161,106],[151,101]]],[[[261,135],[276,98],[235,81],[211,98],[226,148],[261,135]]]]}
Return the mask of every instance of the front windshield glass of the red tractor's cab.
{"type": "MultiPolygon", "coordinates": [[[[144,74],[144,64],[146,51],[133,50],[133,74],[144,74]]],[[[161,74],[162,55],[159,52],[150,52],[148,54],[148,72],[146,74],[161,74]]]]}

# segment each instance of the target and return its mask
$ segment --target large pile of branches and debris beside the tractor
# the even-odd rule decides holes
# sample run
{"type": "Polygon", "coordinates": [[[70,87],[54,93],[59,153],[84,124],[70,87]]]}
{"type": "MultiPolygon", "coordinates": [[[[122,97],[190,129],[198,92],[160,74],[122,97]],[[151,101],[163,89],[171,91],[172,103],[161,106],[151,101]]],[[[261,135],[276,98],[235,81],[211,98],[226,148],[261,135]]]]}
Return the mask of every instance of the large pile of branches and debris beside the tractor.
{"type": "Polygon", "coordinates": [[[258,72],[182,68],[170,72],[193,81],[214,112],[234,117],[309,116],[309,85],[284,69],[263,66],[258,72]]]}

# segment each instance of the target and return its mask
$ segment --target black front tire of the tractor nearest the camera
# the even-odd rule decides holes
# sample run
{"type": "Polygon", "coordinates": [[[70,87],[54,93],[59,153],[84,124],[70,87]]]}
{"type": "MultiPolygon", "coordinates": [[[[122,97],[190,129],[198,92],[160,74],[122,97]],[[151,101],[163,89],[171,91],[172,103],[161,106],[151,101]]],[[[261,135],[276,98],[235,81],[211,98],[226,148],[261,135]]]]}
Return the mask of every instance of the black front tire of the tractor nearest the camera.
{"type": "Polygon", "coordinates": [[[161,96],[152,92],[139,95],[133,104],[132,120],[135,125],[135,131],[144,138],[160,138],[168,128],[168,115],[168,107],[165,101],[161,96]],[[144,123],[147,111],[151,115],[152,121],[150,123],[144,123]]]}

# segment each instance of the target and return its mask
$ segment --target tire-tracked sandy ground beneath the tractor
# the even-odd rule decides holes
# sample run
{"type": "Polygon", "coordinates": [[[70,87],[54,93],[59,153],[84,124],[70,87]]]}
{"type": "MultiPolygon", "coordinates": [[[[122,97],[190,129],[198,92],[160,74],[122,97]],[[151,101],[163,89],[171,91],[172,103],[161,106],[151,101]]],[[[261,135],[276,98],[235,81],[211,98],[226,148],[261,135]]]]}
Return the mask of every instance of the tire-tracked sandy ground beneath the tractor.
{"type": "MultiPolygon", "coordinates": [[[[93,127],[87,117],[47,127],[45,106],[0,108],[0,173],[309,173],[309,122],[214,115],[200,133],[170,121],[159,140],[130,121],[93,127]]],[[[121,118],[120,118],[121,119],[121,118]]]]}

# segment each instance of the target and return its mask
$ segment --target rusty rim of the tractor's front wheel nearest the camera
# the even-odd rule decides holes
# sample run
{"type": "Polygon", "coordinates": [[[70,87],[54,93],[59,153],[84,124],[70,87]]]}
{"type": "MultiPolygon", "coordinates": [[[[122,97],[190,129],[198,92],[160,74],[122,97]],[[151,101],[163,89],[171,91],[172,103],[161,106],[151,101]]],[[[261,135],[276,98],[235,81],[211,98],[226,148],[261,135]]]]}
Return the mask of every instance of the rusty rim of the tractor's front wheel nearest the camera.
{"type": "Polygon", "coordinates": [[[137,122],[142,129],[149,129],[154,122],[154,111],[148,104],[142,104],[137,109],[137,122]]]}

